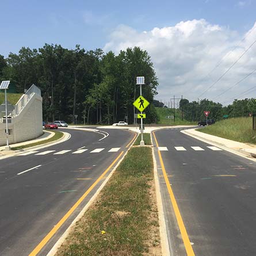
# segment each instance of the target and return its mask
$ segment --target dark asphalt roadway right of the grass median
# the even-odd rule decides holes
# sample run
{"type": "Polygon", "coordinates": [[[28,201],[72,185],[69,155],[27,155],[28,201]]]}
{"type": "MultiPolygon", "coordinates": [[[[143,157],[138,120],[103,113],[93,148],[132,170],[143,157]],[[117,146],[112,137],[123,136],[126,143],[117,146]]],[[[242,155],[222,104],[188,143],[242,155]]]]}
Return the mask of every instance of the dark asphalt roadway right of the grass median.
{"type": "Polygon", "coordinates": [[[156,152],[170,254],[256,255],[255,162],[174,129],[156,131],[155,136],[175,197],[170,199],[156,152]]]}

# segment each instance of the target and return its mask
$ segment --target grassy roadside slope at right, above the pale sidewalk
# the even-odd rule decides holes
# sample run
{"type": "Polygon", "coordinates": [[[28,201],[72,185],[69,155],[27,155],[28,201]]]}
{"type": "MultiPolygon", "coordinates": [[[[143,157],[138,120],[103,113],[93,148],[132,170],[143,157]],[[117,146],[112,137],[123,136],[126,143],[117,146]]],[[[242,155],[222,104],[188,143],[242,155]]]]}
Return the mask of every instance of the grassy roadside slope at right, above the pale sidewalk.
{"type": "Polygon", "coordinates": [[[256,144],[256,131],[253,130],[252,117],[238,117],[218,121],[216,124],[197,129],[211,135],[235,140],[236,142],[256,144]]]}

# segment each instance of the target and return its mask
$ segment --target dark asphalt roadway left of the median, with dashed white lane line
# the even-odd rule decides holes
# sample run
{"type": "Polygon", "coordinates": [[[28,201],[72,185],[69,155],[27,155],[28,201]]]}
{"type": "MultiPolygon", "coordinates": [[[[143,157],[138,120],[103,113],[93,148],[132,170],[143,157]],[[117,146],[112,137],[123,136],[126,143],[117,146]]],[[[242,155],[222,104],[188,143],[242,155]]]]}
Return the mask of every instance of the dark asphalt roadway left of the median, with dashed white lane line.
{"type": "MultiPolygon", "coordinates": [[[[99,133],[64,131],[71,134],[66,142],[0,160],[1,256],[32,253],[134,137],[120,129],[105,129],[103,140],[99,133]]],[[[103,181],[36,255],[47,255],[103,181]]]]}

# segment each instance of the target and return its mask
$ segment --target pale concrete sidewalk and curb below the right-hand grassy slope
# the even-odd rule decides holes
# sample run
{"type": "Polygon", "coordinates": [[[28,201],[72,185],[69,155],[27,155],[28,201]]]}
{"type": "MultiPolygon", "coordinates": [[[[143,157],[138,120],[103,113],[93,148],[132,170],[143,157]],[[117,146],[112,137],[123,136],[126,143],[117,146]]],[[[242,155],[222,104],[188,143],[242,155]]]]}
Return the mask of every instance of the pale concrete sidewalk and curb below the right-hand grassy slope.
{"type": "MultiPolygon", "coordinates": [[[[226,144],[223,144],[223,143],[219,143],[219,142],[216,142],[214,140],[211,140],[211,139],[207,139],[205,137],[202,137],[200,136],[200,133],[201,132],[198,132],[198,131],[195,131],[196,132],[196,135],[195,134],[192,134],[190,131],[191,130],[194,130],[194,129],[187,129],[187,130],[183,130],[181,131],[182,133],[190,136],[190,137],[194,137],[194,139],[197,139],[197,140],[201,140],[201,142],[205,142],[205,143],[208,143],[208,144],[211,144],[213,146],[216,146],[216,147],[219,147],[223,150],[226,150],[228,152],[231,152],[232,154],[235,154],[235,155],[239,155],[239,156],[242,156],[244,158],[247,158],[247,159],[250,159],[251,161],[255,161],[256,162],[256,159],[254,159],[254,157],[251,155],[250,152],[246,152],[246,151],[243,151],[243,148],[240,148],[239,150],[235,150],[235,149],[232,149],[232,148],[229,148],[226,146],[226,144]]],[[[205,133],[204,133],[205,134],[205,133]]],[[[213,136],[213,135],[212,135],[213,136]]],[[[216,136],[217,137],[217,136],[216,136]]],[[[219,138],[219,137],[218,137],[219,138]]]]}

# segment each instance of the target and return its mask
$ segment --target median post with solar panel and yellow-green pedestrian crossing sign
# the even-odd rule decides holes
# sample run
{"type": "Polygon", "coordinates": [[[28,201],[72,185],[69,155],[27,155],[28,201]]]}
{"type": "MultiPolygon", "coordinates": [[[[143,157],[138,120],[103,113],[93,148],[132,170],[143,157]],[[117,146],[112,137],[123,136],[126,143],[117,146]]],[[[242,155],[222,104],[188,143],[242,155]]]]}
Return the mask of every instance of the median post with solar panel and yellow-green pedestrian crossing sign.
{"type": "Polygon", "coordinates": [[[142,85],[145,84],[144,81],[145,81],[144,77],[136,77],[136,85],[140,86],[140,96],[135,100],[135,102],[133,102],[133,106],[135,106],[135,108],[137,108],[137,110],[140,111],[140,116],[142,116],[140,118],[140,134],[142,135],[142,140],[140,140],[140,146],[145,146],[145,143],[143,140],[143,113],[142,112],[144,109],[147,108],[148,105],[150,105],[150,102],[148,102],[146,98],[142,96],[142,85]]]}

